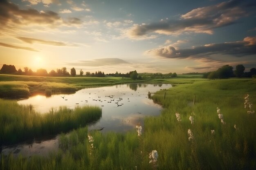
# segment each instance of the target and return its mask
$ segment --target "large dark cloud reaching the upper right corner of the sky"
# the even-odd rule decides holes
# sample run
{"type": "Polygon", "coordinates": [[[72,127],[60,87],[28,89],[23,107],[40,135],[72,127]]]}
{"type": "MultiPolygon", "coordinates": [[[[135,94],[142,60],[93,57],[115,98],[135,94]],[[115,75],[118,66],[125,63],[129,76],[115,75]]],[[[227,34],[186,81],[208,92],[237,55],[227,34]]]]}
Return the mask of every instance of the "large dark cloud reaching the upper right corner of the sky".
{"type": "Polygon", "coordinates": [[[213,34],[213,29],[236,23],[256,10],[256,1],[229,0],[216,5],[193,9],[177,20],[161,20],[137,24],[129,28],[128,37],[136,39],[150,33],[180,35],[181,33],[213,34]]]}

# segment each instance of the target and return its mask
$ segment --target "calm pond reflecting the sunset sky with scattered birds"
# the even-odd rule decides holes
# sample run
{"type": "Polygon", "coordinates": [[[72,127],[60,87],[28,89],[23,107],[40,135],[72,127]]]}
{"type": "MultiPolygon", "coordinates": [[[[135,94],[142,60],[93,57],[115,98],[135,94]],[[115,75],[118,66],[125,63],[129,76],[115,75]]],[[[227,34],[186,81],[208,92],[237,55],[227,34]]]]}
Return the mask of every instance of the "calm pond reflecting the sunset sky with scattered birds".
{"type": "MultiPolygon", "coordinates": [[[[52,95],[45,97],[36,95],[18,101],[19,104],[32,104],[41,114],[59,106],[74,108],[76,106],[92,105],[102,108],[102,117],[99,121],[88,126],[89,130],[101,132],[126,132],[135,130],[135,126],[144,126],[145,116],[159,115],[162,106],[148,99],[148,92],[154,93],[162,89],[171,88],[171,84],[120,84],[98,88],[85,88],[69,95],[52,95]]],[[[7,155],[34,154],[46,155],[50,150],[58,149],[58,135],[48,139],[34,139],[13,146],[2,146],[1,152],[7,155]]]]}

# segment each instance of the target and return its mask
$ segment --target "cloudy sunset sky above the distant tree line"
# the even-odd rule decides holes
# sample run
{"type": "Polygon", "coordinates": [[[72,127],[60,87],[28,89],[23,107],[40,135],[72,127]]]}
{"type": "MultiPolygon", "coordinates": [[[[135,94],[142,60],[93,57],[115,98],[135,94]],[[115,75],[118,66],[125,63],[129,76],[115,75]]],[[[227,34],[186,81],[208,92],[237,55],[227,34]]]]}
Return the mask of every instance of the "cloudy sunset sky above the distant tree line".
{"type": "Polygon", "coordinates": [[[255,0],[0,0],[0,66],[189,73],[256,67],[255,0]]]}

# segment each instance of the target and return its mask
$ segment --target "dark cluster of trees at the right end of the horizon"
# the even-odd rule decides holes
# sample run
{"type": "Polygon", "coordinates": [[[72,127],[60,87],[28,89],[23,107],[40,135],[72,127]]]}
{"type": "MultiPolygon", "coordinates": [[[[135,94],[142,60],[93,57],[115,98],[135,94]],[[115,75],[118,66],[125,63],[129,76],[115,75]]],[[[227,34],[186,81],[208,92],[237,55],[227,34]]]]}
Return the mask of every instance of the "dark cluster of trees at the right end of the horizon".
{"type": "Polygon", "coordinates": [[[203,78],[208,79],[226,79],[229,77],[253,77],[256,78],[256,68],[251,68],[249,72],[244,72],[245,66],[238,64],[236,70],[233,71],[233,67],[229,65],[222,66],[216,71],[211,71],[203,74],[203,78]]]}

